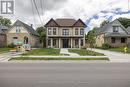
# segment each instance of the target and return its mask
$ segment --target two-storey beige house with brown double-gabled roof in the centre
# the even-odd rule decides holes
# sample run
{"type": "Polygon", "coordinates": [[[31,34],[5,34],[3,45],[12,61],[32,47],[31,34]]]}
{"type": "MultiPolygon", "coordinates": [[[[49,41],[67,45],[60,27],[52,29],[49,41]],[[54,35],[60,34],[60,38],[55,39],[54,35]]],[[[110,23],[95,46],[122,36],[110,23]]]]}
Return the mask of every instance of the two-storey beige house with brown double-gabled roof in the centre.
{"type": "Polygon", "coordinates": [[[48,48],[81,48],[85,45],[86,25],[80,19],[51,19],[45,27],[48,48]]]}

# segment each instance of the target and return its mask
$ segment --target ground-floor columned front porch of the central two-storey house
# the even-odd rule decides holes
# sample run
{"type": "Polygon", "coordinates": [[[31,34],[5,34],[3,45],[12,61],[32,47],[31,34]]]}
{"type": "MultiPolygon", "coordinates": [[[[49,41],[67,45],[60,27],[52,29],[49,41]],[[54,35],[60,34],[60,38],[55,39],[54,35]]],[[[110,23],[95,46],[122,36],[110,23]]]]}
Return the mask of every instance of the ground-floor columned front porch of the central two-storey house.
{"type": "Polygon", "coordinates": [[[84,38],[48,38],[48,48],[81,48],[85,45],[84,38]]]}

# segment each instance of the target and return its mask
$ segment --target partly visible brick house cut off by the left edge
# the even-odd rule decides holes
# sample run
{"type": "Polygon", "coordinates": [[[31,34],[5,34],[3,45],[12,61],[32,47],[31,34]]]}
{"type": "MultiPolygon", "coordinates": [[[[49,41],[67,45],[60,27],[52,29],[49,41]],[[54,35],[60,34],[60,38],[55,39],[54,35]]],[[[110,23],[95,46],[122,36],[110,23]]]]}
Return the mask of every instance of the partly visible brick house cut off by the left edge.
{"type": "Polygon", "coordinates": [[[6,32],[8,27],[0,25],[0,47],[6,46],[6,32]]]}

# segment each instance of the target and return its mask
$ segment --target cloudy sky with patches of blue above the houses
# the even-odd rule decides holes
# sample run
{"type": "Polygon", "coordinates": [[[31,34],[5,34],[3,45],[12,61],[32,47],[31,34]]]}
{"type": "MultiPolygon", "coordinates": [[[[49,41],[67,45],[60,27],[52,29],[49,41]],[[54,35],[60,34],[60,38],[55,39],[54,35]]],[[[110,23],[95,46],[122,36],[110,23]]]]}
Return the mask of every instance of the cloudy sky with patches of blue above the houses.
{"type": "Polygon", "coordinates": [[[44,25],[50,18],[81,18],[88,31],[103,20],[130,17],[128,8],[128,0],[15,0],[15,14],[2,16],[35,27],[44,25]],[[33,1],[36,1],[40,17],[33,1]]]}

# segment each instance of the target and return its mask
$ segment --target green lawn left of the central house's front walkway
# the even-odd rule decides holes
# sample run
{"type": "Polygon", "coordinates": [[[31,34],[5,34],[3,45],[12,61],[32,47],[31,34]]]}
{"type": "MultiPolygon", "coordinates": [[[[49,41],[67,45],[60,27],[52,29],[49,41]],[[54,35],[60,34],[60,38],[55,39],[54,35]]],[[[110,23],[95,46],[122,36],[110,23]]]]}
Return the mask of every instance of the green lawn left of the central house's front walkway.
{"type": "Polygon", "coordinates": [[[40,49],[33,49],[27,53],[22,55],[59,55],[60,49],[52,49],[52,48],[40,48],[40,49]]]}

